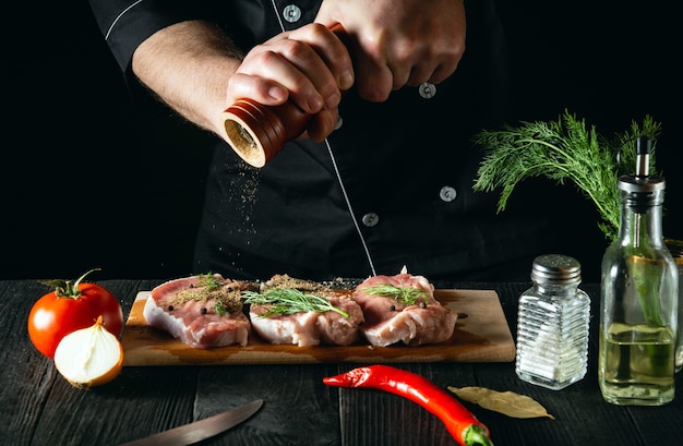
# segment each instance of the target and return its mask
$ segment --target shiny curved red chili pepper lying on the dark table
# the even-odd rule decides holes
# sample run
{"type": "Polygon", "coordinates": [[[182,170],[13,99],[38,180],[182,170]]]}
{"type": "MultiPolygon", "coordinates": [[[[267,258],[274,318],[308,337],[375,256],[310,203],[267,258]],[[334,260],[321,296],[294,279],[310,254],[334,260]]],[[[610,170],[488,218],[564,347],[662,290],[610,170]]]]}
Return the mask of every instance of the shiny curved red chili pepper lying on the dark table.
{"type": "Polygon", "coordinates": [[[451,394],[418,374],[376,364],[325,377],[323,383],[336,387],[374,388],[402,396],[439,417],[460,445],[493,446],[489,437],[489,427],[477,420],[451,394]]]}

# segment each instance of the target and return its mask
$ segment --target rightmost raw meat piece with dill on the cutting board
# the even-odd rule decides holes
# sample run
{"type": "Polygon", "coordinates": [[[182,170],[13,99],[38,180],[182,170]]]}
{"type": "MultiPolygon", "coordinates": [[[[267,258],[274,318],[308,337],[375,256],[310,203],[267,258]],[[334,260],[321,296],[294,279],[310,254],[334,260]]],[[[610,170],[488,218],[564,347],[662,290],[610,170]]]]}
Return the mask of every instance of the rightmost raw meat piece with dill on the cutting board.
{"type": "Polygon", "coordinates": [[[434,286],[423,276],[404,270],[369,277],[356,288],[354,299],[366,318],[360,332],[372,346],[399,341],[420,346],[453,336],[457,314],[434,299],[434,286]]]}

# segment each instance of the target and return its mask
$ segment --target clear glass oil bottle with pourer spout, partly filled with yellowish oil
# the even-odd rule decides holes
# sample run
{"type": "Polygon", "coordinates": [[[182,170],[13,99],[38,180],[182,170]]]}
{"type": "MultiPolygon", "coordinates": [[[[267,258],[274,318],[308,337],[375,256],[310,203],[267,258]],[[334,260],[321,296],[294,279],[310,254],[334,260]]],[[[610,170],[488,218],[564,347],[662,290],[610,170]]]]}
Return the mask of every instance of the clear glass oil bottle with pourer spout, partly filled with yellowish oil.
{"type": "Polygon", "coordinates": [[[622,176],[619,238],[602,258],[598,382],[614,405],[674,397],[678,270],[661,232],[664,180],[649,174],[651,141],[638,138],[636,172],[622,176]]]}

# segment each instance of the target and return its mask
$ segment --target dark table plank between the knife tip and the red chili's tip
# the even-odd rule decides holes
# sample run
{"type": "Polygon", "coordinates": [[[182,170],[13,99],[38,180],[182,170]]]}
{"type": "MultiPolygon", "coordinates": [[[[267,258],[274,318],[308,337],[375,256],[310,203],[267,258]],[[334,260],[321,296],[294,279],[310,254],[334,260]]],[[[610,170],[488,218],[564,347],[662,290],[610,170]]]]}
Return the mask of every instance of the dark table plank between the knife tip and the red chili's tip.
{"type": "Polygon", "coordinates": [[[195,417],[204,418],[254,399],[262,409],[216,445],[340,445],[336,389],[322,382],[334,365],[231,365],[201,367],[195,417]]]}

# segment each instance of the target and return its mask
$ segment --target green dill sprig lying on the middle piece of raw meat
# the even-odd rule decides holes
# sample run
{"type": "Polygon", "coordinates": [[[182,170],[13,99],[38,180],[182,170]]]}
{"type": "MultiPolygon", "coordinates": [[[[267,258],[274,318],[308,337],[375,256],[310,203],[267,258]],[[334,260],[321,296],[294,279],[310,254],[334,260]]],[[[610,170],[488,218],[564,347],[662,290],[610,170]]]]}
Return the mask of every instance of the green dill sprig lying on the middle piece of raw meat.
{"type": "Polygon", "coordinates": [[[295,288],[268,288],[263,292],[242,291],[242,297],[244,298],[244,303],[271,305],[271,309],[262,314],[261,317],[278,314],[289,315],[309,311],[334,311],[344,317],[349,317],[347,312],[334,306],[329,300],[295,288]]]}

